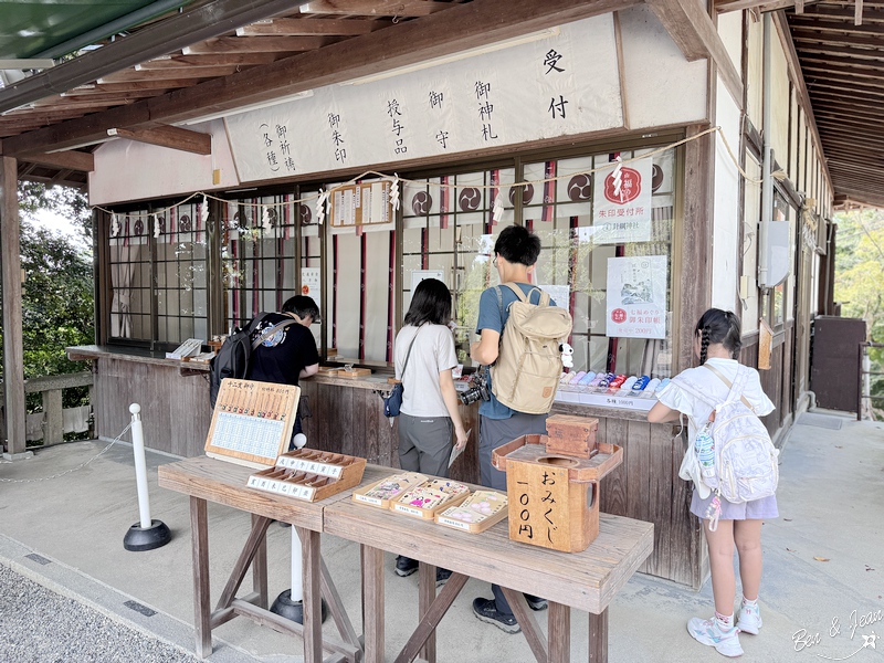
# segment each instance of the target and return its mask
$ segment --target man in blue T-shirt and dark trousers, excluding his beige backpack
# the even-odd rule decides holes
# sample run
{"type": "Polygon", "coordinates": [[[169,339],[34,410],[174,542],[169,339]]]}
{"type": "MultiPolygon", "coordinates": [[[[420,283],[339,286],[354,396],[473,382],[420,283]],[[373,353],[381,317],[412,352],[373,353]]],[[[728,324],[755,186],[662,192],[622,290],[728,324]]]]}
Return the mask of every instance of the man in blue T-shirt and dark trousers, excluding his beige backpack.
{"type": "MultiPolygon", "coordinates": [[[[501,284],[514,284],[522,290],[528,302],[539,304],[544,294],[539,288],[530,285],[530,274],[540,255],[540,238],[520,225],[505,228],[497,236],[494,244],[494,265],[501,277],[501,284]]],[[[478,303],[478,323],[476,334],[480,340],[470,348],[470,357],[476,364],[491,366],[497,361],[502,354],[501,340],[507,320],[509,319],[511,305],[520,297],[506,285],[486,288],[478,303]]],[[[549,303],[555,306],[554,302],[549,303]]],[[[565,312],[567,316],[567,312],[565,312]]],[[[570,320],[570,318],[568,318],[570,320]]],[[[570,324],[568,325],[570,330],[570,324]]],[[[558,351],[558,341],[556,341],[558,351]]],[[[554,372],[560,375],[561,360],[554,372]]],[[[512,392],[511,385],[494,385],[494,378],[499,375],[492,368],[488,380],[490,400],[483,401],[478,408],[480,441],[478,459],[482,485],[506,492],[506,473],[492,466],[492,450],[506,444],[522,435],[546,434],[546,412],[527,413],[514,410],[501,402],[498,396],[512,392]]],[[[555,394],[555,388],[554,392],[555,394]]],[[[506,397],[504,397],[506,399],[506,397]]],[[[538,399],[541,398],[538,393],[538,399]]],[[[551,398],[549,399],[551,402],[551,398]]],[[[547,409],[548,411],[548,409],[547,409]]],[[[504,598],[497,585],[492,585],[493,599],[477,598],[473,601],[473,613],[482,621],[494,624],[507,633],[518,633],[520,628],[513,609],[504,598]]],[[[545,599],[525,594],[528,606],[533,610],[544,610],[547,607],[545,599]]]]}

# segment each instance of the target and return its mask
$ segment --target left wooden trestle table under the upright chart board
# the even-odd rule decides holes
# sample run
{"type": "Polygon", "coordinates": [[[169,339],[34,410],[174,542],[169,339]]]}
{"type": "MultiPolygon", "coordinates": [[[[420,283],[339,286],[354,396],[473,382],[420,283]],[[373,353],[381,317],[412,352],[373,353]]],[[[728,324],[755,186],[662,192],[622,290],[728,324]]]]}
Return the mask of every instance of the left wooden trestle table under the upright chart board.
{"type": "MultiPolygon", "coordinates": [[[[356,663],[362,656],[362,644],[357,636],[340,598],[322,560],[319,533],[323,530],[323,511],[329,499],[347,498],[345,491],[325,502],[304,502],[248,488],[245,482],[255,472],[207,456],[198,456],[161,465],[159,485],[190,495],[190,527],[193,547],[193,613],[197,631],[196,652],[200,657],[212,653],[212,629],[236,615],[248,617],[272,629],[298,635],[304,640],[304,660],[323,661],[323,651],[334,653],[335,661],[356,663]],[[214,610],[209,596],[209,523],[207,502],[224,504],[252,514],[252,530],[231,571],[214,610]],[[265,535],[273,520],[291,523],[303,548],[304,624],[291,621],[267,610],[267,554],[265,535]],[[252,567],[253,591],[242,598],[236,592],[245,572],[252,567]],[[341,640],[323,640],[322,599],[326,600],[341,640]]],[[[365,482],[380,481],[391,473],[389,467],[369,466],[365,482]]]]}

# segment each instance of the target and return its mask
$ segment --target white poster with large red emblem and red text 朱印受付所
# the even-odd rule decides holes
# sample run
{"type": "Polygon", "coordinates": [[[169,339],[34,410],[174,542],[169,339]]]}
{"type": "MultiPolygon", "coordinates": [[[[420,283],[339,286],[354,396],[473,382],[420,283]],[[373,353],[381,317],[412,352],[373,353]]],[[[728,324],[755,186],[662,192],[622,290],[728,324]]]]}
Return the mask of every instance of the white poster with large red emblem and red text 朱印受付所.
{"type": "Polygon", "coordinates": [[[592,227],[585,234],[596,244],[651,241],[653,168],[649,157],[594,173],[592,227]]]}

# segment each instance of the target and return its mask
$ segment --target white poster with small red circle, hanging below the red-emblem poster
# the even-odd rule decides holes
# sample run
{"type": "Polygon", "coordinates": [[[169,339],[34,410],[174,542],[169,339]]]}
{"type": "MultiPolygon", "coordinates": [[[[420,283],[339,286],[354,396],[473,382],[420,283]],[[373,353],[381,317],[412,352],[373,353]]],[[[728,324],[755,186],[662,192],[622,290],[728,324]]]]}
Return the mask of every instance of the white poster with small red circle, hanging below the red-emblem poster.
{"type": "Polygon", "coordinates": [[[665,338],[667,282],[665,255],[609,259],[606,336],[665,338]]]}

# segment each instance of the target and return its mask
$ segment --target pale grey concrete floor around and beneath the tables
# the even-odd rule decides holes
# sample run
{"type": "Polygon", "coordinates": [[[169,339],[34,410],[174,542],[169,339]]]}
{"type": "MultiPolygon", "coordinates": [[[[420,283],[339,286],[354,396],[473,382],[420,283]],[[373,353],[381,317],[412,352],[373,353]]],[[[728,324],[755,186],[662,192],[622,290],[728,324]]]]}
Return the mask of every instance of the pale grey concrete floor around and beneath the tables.
{"type": "MultiPolygon", "coordinates": [[[[149,436],[150,422],[144,423],[149,436]]],[[[176,459],[158,453],[147,459],[151,516],[169,526],[172,540],[157,550],[129,552],[123,537],[139,519],[131,448],[123,442],[106,448],[106,442],[75,442],[0,464],[0,564],[192,652],[189,502],[157,486],[157,466],[176,459]],[[139,604],[156,613],[143,614],[139,604]]],[[[884,639],[884,423],[856,422],[831,411],[803,413],[780,457],[780,517],[765,524],[762,536],[765,625],[760,635],[741,636],[744,660],[884,660],[884,640],[873,644],[875,636],[884,639]]],[[[249,517],[212,504],[209,517],[217,598],[245,540],[249,517]]],[[[290,537],[290,528],[271,526],[271,596],[291,585],[290,537]]],[[[358,546],[324,536],[323,555],[359,630],[358,546]]],[[[392,567],[390,556],[388,660],[417,625],[417,575],[399,578],[392,567]]],[[[473,617],[470,606],[478,596],[491,596],[488,587],[470,580],[443,619],[439,661],[533,661],[522,635],[473,617]]],[[[691,617],[712,614],[708,582],[695,592],[636,575],[609,612],[612,662],[724,660],[685,629],[691,617]]],[[[545,627],[546,613],[538,615],[545,627]]],[[[572,660],[586,661],[586,614],[573,611],[571,624],[572,660]]],[[[332,620],[325,629],[334,632],[332,620]]],[[[214,631],[210,660],[285,663],[302,661],[299,652],[298,640],[234,619],[214,631]]]]}

